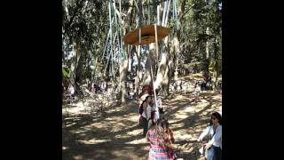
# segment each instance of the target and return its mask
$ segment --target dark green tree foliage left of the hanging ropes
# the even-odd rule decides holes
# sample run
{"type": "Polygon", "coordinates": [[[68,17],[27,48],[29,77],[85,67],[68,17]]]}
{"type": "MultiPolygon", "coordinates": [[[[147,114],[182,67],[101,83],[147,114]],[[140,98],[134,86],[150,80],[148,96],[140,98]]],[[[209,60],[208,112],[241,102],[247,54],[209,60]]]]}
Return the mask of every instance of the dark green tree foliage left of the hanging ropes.
{"type": "MultiPolygon", "coordinates": [[[[73,65],[75,69],[80,66],[82,69],[76,73],[81,79],[91,79],[93,72],[90,66],[94,65],[97,57],[101,60],[109,28],[107,1],[63,0],[62,12],[62,51],[65,52],[63,64],[67,68],[73,65]],[[80,55],[82,60],[69,56],[71,51],[76,52],[76,56],[80,55]]],[[[67,74],[70,76],[75,70],[62,72],[67,77],[67,74]]]]}

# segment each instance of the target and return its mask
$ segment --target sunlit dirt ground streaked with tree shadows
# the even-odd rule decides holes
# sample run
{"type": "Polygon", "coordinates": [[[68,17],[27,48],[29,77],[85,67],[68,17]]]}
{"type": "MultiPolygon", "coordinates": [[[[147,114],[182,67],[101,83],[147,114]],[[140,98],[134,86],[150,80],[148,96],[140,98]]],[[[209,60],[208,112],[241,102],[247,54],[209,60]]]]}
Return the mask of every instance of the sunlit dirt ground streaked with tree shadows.
{"type": "MultiPolygon", "coordinates": [[[[195,103],[193,91],[162,98],[178,158],[204,159],[196,140],[209,124],[210,114],[222,114],[219,92],[201,92],[200,98],[195,103]]],[[[82,106],[63,108],[62,112],[62,159],[147,159],[149,145],[138,126],[137,101],[109,108],[103,116],[84,113],[82,106]]]]}

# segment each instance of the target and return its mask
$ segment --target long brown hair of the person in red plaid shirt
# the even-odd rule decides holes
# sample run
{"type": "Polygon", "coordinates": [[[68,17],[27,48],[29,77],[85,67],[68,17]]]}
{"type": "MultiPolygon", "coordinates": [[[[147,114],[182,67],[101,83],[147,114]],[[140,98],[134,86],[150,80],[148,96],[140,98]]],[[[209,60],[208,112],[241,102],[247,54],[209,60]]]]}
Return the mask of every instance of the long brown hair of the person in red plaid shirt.
{"type": "MultiPolygon", "coordinates": [[[[163,119],[158,119],[156,127],[155,127],[155,133],[157,136],[157,141],[159,143],[159,145],[168,153],[168,156],[170,156],[170,150],[172,150],[172,146],[171,146],[171,140],[169,140],[169,138],[171,136],[169,136],[168,134],[171,132],[167,132],[170,131],[169,128],[169,123],[168,121],[163,118],[163,119]]],[[[172,134],[171,134],[172,135],[172,134]]]]}

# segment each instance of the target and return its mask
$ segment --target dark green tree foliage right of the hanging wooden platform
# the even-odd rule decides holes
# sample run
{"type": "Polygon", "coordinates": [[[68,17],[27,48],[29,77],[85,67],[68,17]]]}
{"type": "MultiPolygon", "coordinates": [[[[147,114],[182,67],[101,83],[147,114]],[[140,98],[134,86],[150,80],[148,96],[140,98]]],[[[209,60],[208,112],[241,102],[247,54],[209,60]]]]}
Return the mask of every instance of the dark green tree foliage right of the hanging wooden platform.
{"type": "Polygon", "coordinates": [[[220,3],[221,1],[191,0],[185,4],[186,13],[181,22],[182,34],[180,38],[180,44],[184,44],[181,48],[181,53],[184,54],[185,61],[190,62],[193,59],[197,59],[201,61],[204,68],[208,66],[208,60],[204,56],[206,55],[207,42],[209,42],[209,59],[220,59],[222,56],[222,51],[220,50],[220,39],[222,39],[220,3]],[[186,11],[186,9],[189,11],[186,11]],[[206,33],[207,28],[209,28],[209,34],[206,33]],[[216,39],[219,40],[217,44],[216,39]]]}

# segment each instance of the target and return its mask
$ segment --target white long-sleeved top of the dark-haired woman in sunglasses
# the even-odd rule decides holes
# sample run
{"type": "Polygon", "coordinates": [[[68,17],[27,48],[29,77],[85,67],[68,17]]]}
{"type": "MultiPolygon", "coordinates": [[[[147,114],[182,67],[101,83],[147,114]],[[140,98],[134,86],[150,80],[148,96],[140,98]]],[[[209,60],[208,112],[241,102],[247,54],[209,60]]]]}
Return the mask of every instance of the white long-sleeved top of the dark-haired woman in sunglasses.
{"type": "MultiPolygon", "coordinates": [[[[201,133],[199,139],[203,139],[205,136],[213,135],[213,125],[210,125],[206,128],[204,132],[201,133]]],[[[220,147],[222,149],[222,125],[217,124],[216,133],[211,140],[209,140],[209,144],[214,145],[216,147],[220,147]]]]}

